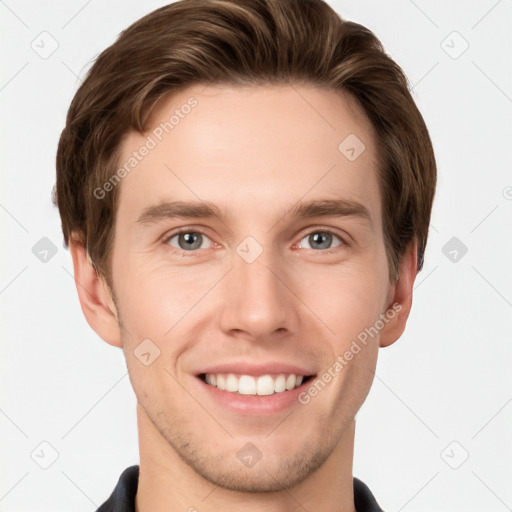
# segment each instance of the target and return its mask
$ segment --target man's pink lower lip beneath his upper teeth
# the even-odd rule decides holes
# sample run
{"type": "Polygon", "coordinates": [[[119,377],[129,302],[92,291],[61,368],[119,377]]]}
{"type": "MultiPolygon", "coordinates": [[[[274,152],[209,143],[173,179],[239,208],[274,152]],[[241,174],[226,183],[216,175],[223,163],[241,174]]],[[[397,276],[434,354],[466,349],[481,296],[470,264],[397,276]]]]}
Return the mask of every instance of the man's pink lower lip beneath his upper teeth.
{"type": "Polygon", "coordinates": [[[222,406],[231,409],[234,412],[244,415],[271,415],[284,411],[292,405],[300,405],[298,396],[310,384],[312,379],[303,382],[300,386],[282,393],[273,393],[272,395],[241,395],[223,391],[216,386],[206,384],[201,378],[195,378],[199,385],[209,394],[209,396],[220,403],[222,406]]]}

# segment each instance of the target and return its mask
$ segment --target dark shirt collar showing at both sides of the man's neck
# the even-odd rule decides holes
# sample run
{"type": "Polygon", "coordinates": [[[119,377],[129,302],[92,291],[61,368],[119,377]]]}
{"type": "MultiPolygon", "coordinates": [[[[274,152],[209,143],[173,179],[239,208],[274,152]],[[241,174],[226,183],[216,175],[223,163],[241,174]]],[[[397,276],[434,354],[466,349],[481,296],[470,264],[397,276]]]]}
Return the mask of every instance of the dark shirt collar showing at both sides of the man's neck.
{"type": "MultiPolygon", "coordinates": [[[[139,466],[126,468],[110,498],[96,512],[135,512],[135,494],[139,483],[139,466]]],[[[357,512],[384,512],[368,486],[354,477],[354,505],[357,512]]]]}

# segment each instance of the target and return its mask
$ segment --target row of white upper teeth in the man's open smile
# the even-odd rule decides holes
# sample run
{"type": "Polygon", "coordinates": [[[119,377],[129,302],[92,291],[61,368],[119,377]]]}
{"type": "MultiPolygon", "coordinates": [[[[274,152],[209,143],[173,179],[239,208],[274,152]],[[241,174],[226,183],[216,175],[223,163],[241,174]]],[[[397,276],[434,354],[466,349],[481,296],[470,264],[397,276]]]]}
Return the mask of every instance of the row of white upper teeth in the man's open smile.
{"type": "Polygon", "coordinates": [[[215,386],[222,391],[240,393],[241,395],[273,395],[299,387],[304,380],[304,375],[283,373],[279,375],[235,375],[233,373],[207,373],[205,381],[210,386],[215,386]]]}

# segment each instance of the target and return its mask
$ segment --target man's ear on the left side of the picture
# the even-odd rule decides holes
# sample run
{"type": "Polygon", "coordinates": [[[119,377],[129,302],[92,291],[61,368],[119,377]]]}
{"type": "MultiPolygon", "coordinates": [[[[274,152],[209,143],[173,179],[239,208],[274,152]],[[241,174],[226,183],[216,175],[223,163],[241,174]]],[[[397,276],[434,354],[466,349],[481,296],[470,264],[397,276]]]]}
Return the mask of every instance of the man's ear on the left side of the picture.
{"type": "Polygon", "coordinates": [[[118,312],[105,278],[98,275],[83,243],[76,237],[70,237],[69,251],[78,298],[87,323],[107,343],[122,347],[118,312]]]}

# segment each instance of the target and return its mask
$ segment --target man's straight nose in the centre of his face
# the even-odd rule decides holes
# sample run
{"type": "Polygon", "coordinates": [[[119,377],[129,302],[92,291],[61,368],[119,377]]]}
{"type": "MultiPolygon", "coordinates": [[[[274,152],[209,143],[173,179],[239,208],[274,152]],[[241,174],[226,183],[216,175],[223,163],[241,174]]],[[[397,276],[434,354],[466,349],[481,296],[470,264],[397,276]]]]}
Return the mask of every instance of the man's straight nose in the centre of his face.
{"type": "Polygon", "coordinates": [[[296,332],[300,301],[270,252],[263,251],[252,263],[235,255],[222,285],[220,323],[225,333],[263,341],[296,332]]]}

